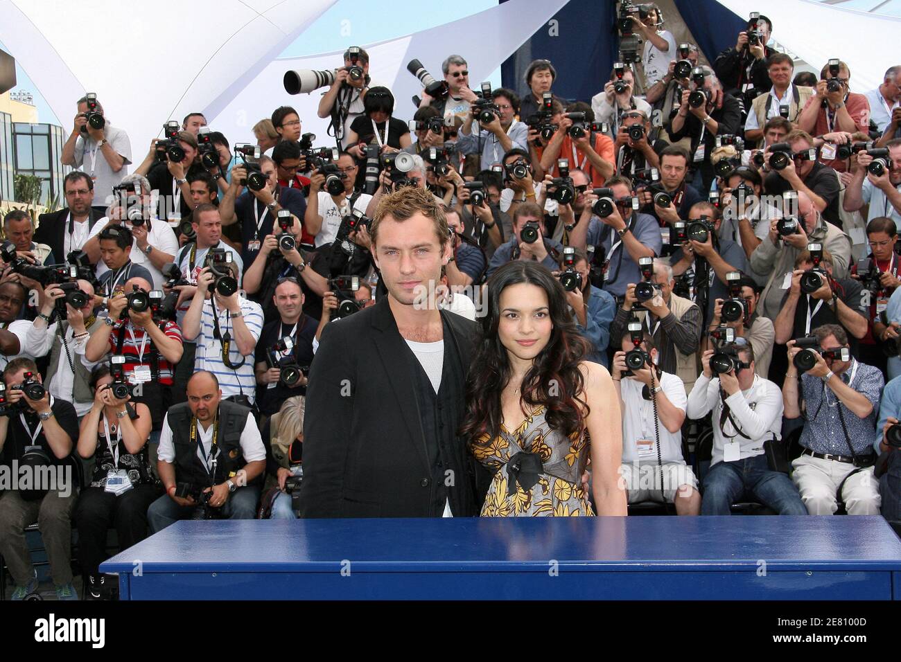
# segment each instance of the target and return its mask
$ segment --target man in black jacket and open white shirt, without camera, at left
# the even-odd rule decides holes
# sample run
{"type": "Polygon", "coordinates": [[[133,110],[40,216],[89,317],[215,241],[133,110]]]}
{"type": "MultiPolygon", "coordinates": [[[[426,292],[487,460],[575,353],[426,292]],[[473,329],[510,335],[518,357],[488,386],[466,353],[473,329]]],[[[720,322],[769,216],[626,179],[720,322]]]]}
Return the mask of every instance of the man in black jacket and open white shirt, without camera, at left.
{"type": "Polygon", "coordinates": [[[59,212],[41,213],[34,240],[50,246],[50,252],[59,261],[73,250],[85,245],[91,228],[103,217],[94,204],[94,182],[81,170],[70,172],[62,182],[66,195],[66,207],[59,212]]]}

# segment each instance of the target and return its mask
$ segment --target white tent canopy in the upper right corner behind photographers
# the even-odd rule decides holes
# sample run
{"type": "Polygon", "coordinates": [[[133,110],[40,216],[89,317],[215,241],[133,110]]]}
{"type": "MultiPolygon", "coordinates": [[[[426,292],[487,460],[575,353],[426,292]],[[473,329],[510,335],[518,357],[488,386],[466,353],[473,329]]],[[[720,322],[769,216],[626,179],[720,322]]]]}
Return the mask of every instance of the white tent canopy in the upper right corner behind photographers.
{"type": "Polygon", "coordinates": [[[867,92],[882,83],[886,69],[901,64],[892,46],[901,18],[868,14],[814,0],[717,0],[734,14],[751,11],[772,19],[773,38],[819,71],[832,58],[851,68],[851,91],[867,92]]]}

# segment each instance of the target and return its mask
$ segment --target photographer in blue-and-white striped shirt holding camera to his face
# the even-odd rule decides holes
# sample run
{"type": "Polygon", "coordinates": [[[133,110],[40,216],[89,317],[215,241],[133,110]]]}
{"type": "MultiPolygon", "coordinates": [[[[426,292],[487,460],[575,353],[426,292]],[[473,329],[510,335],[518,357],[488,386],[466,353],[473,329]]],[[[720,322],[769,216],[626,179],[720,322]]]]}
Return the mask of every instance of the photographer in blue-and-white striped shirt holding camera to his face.
{"type": "MultiPolygon", "coordinates": [[[[223,262],[216,268],[237,282],[237,263],[223,262]]],[[[201,269],[182,335],[196,342],[195,369],[213,373],[229,400],[251,406],[257,386],[252,357],[263,330],[263,310],[237,288],[223,296],[220,286],[224,287],[223,277],[216,277],[210,267],[201,269]]]]}

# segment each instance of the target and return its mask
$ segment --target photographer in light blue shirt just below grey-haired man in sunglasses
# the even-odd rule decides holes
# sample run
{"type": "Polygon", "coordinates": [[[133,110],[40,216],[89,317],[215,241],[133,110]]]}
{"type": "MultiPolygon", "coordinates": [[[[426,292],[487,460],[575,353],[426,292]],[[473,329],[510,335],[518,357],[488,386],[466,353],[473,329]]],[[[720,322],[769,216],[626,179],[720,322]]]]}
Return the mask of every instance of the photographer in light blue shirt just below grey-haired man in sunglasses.
{"type": "Polygon", "coordinates": [[[498,87],[491,93],[491,100],[497,106],[497,113],[492,113],[491,122],[478,122],[478,131],[472,131],[481,107],[469,105],[469,113],[460,127],[460,138],[457,151],[462,154],[476,152],[481,155],[483,170],[499,164],[504,155],[515,148],[529,149],[529,127],[516,120],[519,113],[519,97],[513,90],[498,87]]]}

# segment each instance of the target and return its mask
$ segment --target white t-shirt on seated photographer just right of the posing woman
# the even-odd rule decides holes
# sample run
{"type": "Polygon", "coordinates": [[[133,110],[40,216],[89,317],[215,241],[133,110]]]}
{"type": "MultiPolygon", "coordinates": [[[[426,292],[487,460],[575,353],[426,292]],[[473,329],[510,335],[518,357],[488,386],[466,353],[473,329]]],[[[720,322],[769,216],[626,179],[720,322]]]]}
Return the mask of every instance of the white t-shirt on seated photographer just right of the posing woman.
{"type": "MultiPolygon", "coordinates": [[[[688,403],[685,385],[678,376],[663,373],[660,385],[669,402],[683,412],[688,403]]],[[[654,432],[654,405],[642,398],[644,385],[637,379],[625,377],[620,382],[623,394],[623,463],[657,462],[657,447],[654,432]]],[[[660,394],[658,394],[660,397],[660,394]]],[[[660,460],[663,462],[684,462],[682,457],[682,431],[676,433],[660,428],[660,460]]]]}

